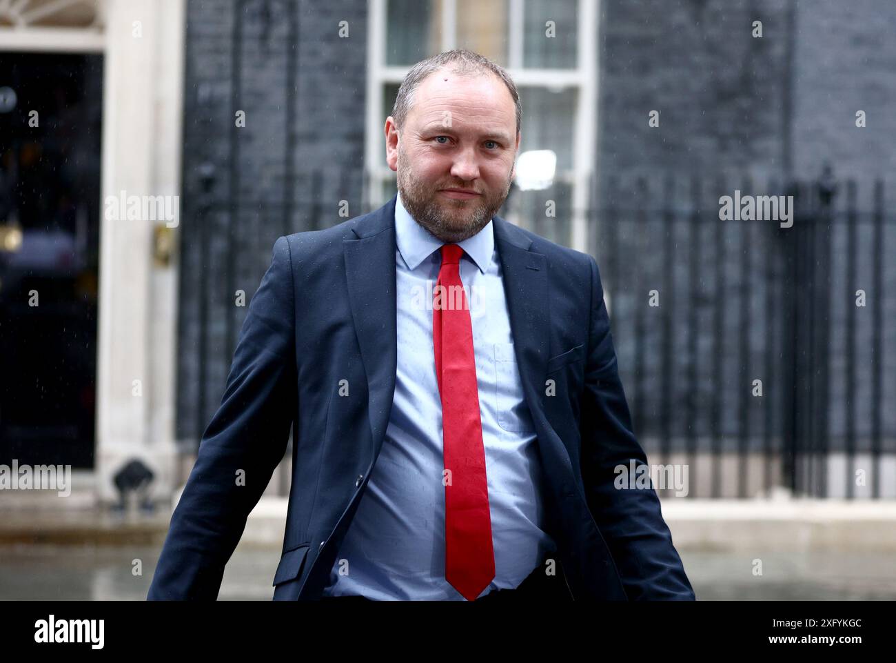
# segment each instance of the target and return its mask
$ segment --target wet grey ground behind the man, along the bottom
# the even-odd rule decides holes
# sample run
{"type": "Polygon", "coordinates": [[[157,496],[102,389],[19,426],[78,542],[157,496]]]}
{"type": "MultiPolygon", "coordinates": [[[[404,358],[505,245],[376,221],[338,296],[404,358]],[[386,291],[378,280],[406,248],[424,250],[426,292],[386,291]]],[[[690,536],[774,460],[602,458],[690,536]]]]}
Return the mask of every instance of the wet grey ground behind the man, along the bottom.
{"type": "MultiPolygon", "coordinates": [[[[896,599],[892,554],[679,552],[698,599],[896,599]]],[[[0,600],[144,600],[158,559],[159,546],[4,545],[0,600]]],[[[279,548],[238,546],[218,598],[271,600],[279,561],[279,548]]]]}

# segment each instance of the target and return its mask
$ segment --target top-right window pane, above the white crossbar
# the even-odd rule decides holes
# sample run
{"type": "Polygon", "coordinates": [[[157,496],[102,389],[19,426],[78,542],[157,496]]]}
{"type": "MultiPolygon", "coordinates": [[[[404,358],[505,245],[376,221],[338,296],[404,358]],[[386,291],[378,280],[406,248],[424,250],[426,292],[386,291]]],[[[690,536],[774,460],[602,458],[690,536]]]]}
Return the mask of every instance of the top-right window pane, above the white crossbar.
{"type": "Polygon", "coordinates": [[[578,43],[578,0],[526,0],[525,7],[523,66],[574,69],[578,43]],[[548,21],[554,22],[553,37],[547,36],[548,21]]]}

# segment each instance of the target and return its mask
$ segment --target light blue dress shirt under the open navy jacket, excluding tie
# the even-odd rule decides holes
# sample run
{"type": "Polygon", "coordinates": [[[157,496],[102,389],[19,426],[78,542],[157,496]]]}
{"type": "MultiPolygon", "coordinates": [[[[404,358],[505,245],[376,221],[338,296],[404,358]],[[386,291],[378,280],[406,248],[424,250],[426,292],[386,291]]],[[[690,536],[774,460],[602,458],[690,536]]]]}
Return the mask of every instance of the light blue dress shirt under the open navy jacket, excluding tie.
{"type": "MultiPolygon", "coordinates": [[[[398,356],[392,414],[323,596],[466,600],[445,580],[442,401],[435,379],[433,289],[443,244],[395,205],[398,356]]],[[[538,441],[513,354],[493,222],[458,242],[470,306],[486,452],[495,578],[515,588],[549,552],[538,441]]]]}

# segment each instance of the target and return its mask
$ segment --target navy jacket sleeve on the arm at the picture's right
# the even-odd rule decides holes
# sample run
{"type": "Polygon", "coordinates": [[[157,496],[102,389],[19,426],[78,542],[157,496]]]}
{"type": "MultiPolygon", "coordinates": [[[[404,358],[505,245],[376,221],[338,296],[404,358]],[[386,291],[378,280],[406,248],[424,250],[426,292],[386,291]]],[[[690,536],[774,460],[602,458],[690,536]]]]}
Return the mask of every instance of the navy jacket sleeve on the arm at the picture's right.
{"type": "Polygon", "coordinates": [[[616,351],[604,304],[598,265],[590,260],[591,314],[582,401],[582,480],[588,506],[610,549],[629,600],[694,600],[694,589],[672,535],[662,518],[659,497],[650,489],[617,489],[617,466],[646,465],[633,433],[616,351]]]}

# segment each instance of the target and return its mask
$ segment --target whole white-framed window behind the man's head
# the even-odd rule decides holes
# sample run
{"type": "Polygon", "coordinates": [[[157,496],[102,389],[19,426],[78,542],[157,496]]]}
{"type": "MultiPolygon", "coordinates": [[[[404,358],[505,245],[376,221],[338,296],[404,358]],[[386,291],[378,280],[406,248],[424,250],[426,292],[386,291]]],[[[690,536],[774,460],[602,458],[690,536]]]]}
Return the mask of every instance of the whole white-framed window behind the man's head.
{"type": "Polygon", "coordinates": [[[501,216],[585,250],[595,167],[598,3],[595,0],[371,0],[366,171],[368,202],[396,190],[383,125],[419,60],[469,48],[503,66],[520,92],[517,172],[501,216]]]}

